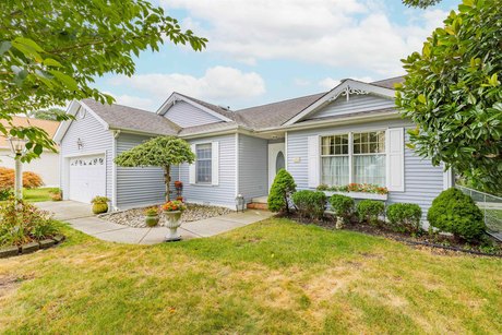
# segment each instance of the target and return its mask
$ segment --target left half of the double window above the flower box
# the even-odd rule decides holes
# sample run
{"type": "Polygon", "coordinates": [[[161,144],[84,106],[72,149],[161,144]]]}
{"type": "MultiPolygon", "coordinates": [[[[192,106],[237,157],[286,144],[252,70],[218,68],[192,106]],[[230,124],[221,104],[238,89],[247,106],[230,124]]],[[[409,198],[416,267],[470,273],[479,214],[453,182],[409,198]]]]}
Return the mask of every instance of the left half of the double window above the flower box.
{"type": "Polygon", "coordinates": [[[322,137],[321,182],[330,186],[347,184],[349,182],[348,157],[348,135],[322,137]]]}

